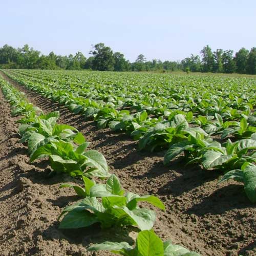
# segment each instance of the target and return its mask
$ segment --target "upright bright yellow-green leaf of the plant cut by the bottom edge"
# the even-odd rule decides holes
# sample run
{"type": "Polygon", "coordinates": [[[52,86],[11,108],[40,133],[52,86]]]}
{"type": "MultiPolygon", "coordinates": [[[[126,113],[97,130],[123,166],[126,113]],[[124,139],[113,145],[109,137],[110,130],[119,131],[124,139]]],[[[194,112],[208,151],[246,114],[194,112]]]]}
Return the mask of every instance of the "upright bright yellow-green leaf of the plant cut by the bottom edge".
{"type": "Polygon", "coordinates": [[[144,230],[139,232],[136,241],[138,254],[141,256],[163,256],[163,242],[152,231],[144,230]]]}

